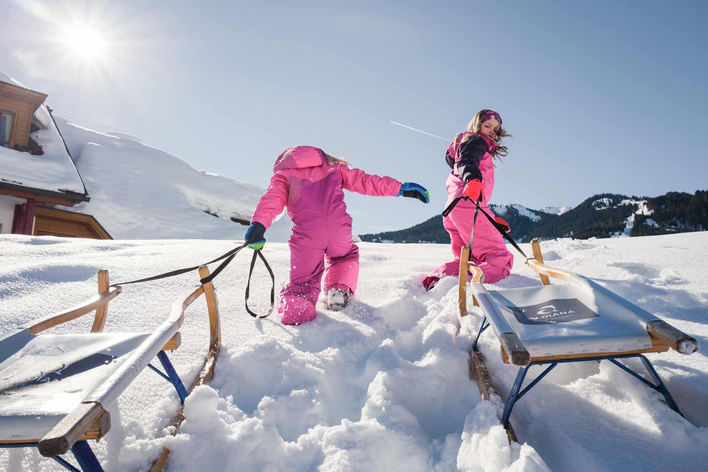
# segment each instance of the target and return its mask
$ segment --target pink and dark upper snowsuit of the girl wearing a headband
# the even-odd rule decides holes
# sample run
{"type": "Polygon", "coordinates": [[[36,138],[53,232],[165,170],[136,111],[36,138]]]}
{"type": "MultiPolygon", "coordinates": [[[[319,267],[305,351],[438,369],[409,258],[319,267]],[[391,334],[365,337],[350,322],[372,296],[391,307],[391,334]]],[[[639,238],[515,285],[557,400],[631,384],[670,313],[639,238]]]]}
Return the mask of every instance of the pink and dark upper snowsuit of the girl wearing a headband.
{"type": "Polygon", "coordinates": [[[483,203],[485,207],[489,205],[491,192],[494,190],[494,163],[491,153],[496,146],[498,146],[496,142],[481,134],[474,134],[471,131],[457,134],[445,154],[447,165],[452,168],[452,173],[445,183],[448,194],[445,207],[455,198],[462,197],[464,184],[474,178],[481,180],[484,189],[483,203]],[[462,139],[469,135],[474,136],[462,143],[462,139]]]}

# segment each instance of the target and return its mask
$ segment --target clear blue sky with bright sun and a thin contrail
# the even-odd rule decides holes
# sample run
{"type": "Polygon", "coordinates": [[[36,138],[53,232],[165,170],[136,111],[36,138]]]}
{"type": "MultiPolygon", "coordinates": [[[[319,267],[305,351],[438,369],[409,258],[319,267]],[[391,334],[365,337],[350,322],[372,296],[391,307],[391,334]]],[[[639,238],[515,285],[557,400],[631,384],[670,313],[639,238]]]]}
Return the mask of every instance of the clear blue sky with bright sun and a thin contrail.
{"type": "Polygon", "coordinates": [[[493,203],[708,188],[704,2],[295,3],[0,0],[0,69],[78,125],[205,171],[265,187],[282,149],[309,144],[430,190],[347,195],[358,233],[447,197],[447,144],[390,121],[451,138],[481,108],[513,134],[493,203]],[[98,59],[59,45],[82,25],[98,59]]]}

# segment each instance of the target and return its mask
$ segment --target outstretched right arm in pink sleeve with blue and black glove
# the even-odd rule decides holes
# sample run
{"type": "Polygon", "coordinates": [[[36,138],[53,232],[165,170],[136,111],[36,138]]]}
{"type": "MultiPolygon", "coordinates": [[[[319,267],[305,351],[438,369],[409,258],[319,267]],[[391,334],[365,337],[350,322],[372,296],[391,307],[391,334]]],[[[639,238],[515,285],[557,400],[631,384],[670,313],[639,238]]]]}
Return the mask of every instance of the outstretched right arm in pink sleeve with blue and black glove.
{"type": "Polygon", "coordinates": [[[400,183],[394,178],[370,175],[345,164],[339,166],[339,172],[342,176],[342,188],[351,192],[374,197],[413,197],[424,203],[430,201],[428,190],[417,183],[400,183]]]}

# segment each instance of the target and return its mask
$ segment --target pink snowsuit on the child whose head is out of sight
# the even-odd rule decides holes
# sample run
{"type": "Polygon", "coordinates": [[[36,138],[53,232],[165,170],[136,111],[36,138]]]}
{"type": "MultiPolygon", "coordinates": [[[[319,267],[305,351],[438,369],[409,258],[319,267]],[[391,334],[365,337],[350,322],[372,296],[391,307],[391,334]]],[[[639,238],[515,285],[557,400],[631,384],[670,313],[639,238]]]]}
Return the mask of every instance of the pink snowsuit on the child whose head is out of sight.
{"type": "Polygon", "coordinates": [[[253,212],[251,223],[266,229],[287,206],[294,223],[290,235],[290,283],[280,292],[283,324],[301,324],[315,316],[324,273],[324,288],[355,294],[359,248],[352,242],[352,218],[342,189],[364,195],[395,197],[401,183],[367,175],[345,164],[327,163],[321,149],[286,149],[273,166],[273,178],[253,212]]]}

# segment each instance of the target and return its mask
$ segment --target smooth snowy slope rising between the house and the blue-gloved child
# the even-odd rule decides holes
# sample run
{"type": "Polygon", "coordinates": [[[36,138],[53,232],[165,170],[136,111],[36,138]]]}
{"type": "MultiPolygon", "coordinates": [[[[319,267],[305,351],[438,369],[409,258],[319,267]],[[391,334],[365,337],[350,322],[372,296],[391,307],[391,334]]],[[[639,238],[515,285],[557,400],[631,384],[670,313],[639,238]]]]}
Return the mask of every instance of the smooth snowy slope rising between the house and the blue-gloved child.
{"type": "MultiPolygon", "coordinates": [[[[55,116],[91,202],[72,211],[91,214],[116,239],[240,238],[265,189],[198,171],[128,134],[104,134],[55,116]],[[216,214],[214,217],[210,214],[216,214]]],[[[285,241],[287,218],[268,231],[285,241]]]]}

